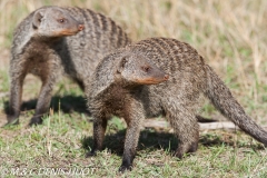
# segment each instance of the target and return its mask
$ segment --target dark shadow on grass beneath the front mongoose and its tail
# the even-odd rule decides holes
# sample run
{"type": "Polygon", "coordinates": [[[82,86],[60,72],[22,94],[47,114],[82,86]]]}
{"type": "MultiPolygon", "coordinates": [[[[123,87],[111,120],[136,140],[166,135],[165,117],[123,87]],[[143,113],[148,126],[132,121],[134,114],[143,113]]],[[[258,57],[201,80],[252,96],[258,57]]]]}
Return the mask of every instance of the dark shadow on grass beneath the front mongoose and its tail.
{"type": "MultiPolygon", "coordinates": [[[[126,129],[119,130],[116,134],[110,134],[105,136],[103,141],[103,148],[108,148],[111,150],[112,154],[117,154],[118,156],[121,156],[123,152],[123,139],[126,135],[126,129]]],[[[170,154],[174,154],[177,146],[178,146],[178,139],[174,136],[174,134],[169,132],[157,132],[154,129],[145,129],[140,132],[139,144],[138,144],[138,150],[158,150],[164,149],[167,150],[170,154]]],[[[87,151],[89,151],[89,148],[92,147],[93,140],[92,137],[87,137],[81,140],[82,148],[87,151]]],[[[204,135],[199,139],[199,144],[205,147],[220,147],[221,145],[225,146],[235,146],[235,140],[228,139],[224,140],[219,136],[210,136],[210,135],[204,135]]],[[[199,145],[199,146],[200,146],[199,145]]],[[[237,142],[237,147],[245,147],[245,148],[253,148],[253,149],[264,149],[264,147],[259,144],[256,145],[244,145],[237,142]]]]}

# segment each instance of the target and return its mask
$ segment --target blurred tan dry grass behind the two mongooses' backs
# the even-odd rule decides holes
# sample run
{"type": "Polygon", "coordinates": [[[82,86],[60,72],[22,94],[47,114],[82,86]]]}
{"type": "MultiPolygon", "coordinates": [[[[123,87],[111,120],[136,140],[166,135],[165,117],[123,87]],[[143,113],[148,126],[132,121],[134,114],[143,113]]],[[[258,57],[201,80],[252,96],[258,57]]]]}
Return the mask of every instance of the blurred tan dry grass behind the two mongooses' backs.
{"type": "MultiPolygon", "coordinates": [[[[134,41],[171,37],[190,43],[245,110],[257,121],[267,120],[266,0],[0,0],[0,97],[9,90],[9,51],[16,26],[34,9],[51,4],[101,12],[134,41]]],[[[38,90],[28,93],[36,97],[38,90]]],[[[217,115],[209,105],[202,110],[207,116],[217,115]]]]}

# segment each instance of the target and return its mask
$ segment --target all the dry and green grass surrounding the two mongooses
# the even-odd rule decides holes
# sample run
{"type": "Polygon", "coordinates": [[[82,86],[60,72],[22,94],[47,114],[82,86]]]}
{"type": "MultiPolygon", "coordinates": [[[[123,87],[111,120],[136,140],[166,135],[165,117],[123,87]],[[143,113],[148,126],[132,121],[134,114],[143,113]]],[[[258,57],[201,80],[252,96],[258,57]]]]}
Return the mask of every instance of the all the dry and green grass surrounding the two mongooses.
{"type": "MultiPolygon", "coordinates": [[[[8,62],[13,29],[30,11],[43,4],[78,6],[102,12],[117,21],[136,41],[164,36],[190,43],[222,78],[245,110],[258,123],[266,125],[266,3],[265,0],[1,0],[0,125],[6,122],[8,62]]],[[[34,168],[34,172],[40,171],[39,176],[44,174],[42,168],[90,170],[90,177],[267,176],[266,150],[243,132],[201,132],[196,155],[178,160],[171,156],[177,139],[168,130],[154,129],[141,131],[135,168],[120,175],[117,170],[121,164],[125,122],[118,118],[110,120],[106,149],[97,157],[85,158],[92,146],[92,122],[82,92],[71,81],[63,80],[55,88],[52,109],[44,123],[27,127],[40,86],[37,78],[27,77],[21,123],[0,128],[0,170],[7,170],[7,177],[23,176],[16,175],[16,170],[23,174],[23,168],[34,168]]],[[[201,116],[221,118],[208,102],[202,107],[201,116]]]]}

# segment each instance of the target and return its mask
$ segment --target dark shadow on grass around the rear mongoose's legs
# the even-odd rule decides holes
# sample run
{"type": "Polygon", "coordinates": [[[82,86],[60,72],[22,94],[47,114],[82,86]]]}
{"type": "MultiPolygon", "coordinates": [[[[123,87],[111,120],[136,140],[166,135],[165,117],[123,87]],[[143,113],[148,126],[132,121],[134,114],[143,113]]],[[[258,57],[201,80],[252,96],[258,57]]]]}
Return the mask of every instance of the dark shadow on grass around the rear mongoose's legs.
{"type": "MultiPolygon", "coordinates": [[[[4,112],[8,113],[9,110],[9,101],[4,101],[4,112]]],[[[37,99],[31,99],[28,101],[23,101],[21,105],[21,111],[33,110],[37,106],[37,99]]],[[[50,108],[53,111],[59,111],[59,109],[65,113],[71,112],[80,112],[89,115],[86,106],[86,99],[82,96],[53,96],[51,100],[50,108]]]]}

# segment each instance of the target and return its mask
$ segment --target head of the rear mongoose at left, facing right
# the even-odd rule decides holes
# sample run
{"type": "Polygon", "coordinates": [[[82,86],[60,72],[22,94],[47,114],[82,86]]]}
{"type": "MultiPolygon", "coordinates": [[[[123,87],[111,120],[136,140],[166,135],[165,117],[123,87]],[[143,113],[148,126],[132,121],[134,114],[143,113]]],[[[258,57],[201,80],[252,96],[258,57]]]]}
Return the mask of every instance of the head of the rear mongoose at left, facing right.
{"type": "Polygon", "coordinates": [[[37,36],[65,37],[83,30],[85,24],[59,7],[48,7],[34,12],[32,27],[37,36]]]}

